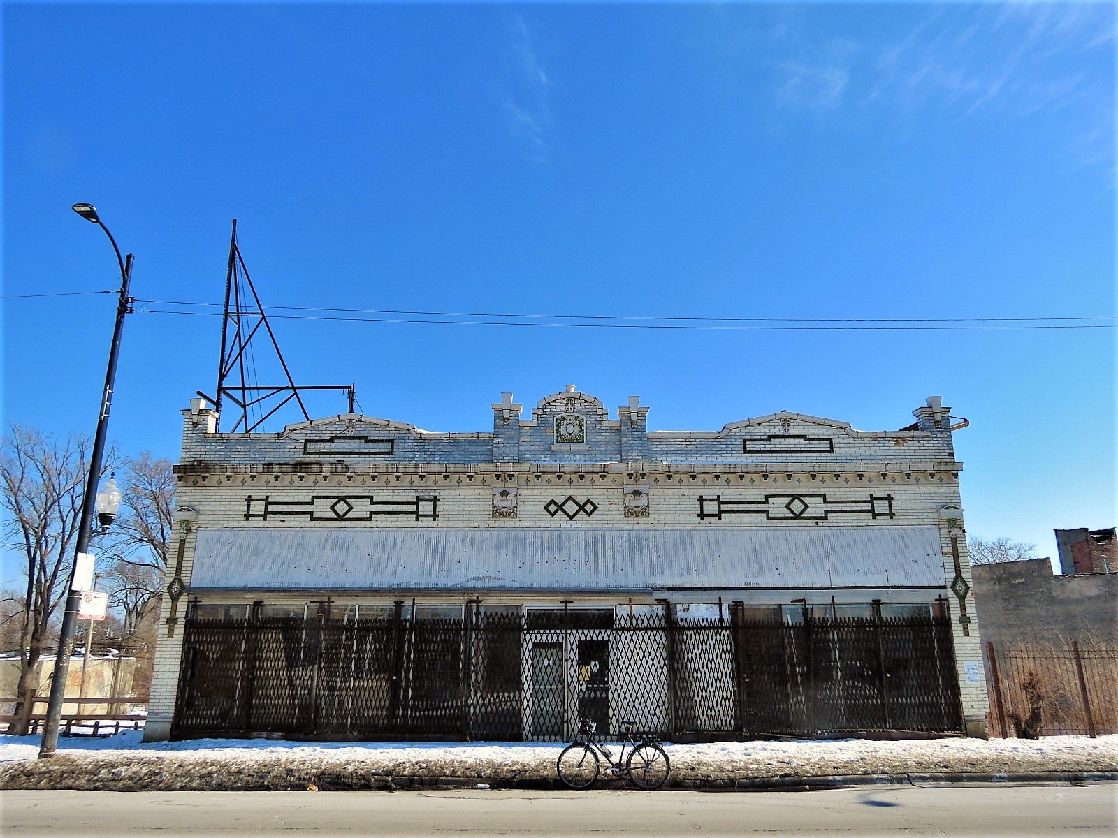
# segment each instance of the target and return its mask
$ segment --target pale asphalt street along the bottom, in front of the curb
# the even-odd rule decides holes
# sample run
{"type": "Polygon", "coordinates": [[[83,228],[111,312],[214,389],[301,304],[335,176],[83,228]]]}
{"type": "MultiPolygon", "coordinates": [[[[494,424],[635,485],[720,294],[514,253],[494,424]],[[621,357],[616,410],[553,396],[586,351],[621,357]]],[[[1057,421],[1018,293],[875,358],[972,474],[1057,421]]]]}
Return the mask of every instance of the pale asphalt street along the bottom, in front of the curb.
{"type": "Polygon", "coordinates": [[[6,791],[6,838],[72,836],[1115,836],[1118,785],[814,792],[6,791]]]}

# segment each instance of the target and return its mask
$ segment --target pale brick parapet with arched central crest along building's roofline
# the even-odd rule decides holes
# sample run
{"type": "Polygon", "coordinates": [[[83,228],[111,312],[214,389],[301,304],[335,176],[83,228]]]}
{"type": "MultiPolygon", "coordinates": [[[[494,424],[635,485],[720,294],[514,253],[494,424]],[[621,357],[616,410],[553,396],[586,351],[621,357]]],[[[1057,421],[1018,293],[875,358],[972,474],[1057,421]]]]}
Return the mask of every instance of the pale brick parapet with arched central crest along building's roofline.
{"type": "MultiPolygon", "coordinates": [[[[954,460],[948,408],[917,409],[898,431],[859,431],[846,422],[783,411],[730,422],[717,431],[648,431],[638,397],[610,419],[601,401],[572,389],[547,396],[521,419],[504,393],[492,406],[492,432],[434,432],[406,422],[347,413],[287,426],[278,434],[220,434],[216,415],[183,411],[181,468],[274,464],[323,472],[337,466],[504,463],[907,464],[954,460]],[[505,398],[506,397],[506,398],[505,398]]],[[[938,404],[938,402],[937,402],[938,404]]]]}

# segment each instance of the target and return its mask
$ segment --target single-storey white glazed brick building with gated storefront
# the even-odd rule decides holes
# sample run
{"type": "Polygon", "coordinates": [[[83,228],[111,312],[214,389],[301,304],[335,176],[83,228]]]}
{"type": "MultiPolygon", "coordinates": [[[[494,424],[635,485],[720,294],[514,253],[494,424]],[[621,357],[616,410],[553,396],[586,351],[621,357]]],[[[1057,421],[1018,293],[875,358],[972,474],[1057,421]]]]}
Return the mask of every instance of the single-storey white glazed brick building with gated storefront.
{"type": "Polygon", "coordinates": [[[680,739],[984,735],[963,466],[937,397],[896,431],[779,412],[650,432],[635,397],[612,419],[574,387],[529,418],[508,393],[492,407],[491,434],[342,415],[233,435],[184,410],[146,739],[561,739],[594,714],[680,739]],[[503,646],[481,628],[498,616],[515,622],[503,646]],[[896,650],[890,620],[909,618],[939,639],[896,650]],[[452,634],[427,648],[432,626],[452,634]],[[776,693],[785,715],[762,718],[776,693]]]}

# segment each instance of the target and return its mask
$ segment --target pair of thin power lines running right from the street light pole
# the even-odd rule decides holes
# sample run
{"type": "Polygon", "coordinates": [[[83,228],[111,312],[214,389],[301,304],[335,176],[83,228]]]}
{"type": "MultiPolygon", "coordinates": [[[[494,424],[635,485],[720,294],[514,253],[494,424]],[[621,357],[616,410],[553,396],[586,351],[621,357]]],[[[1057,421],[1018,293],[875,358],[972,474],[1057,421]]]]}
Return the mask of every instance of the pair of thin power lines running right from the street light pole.
{"type": "MultiPolygon", "coordinates": [[[[174,310],[148,311],[136,310],[138,314],[180,314],[198,317],[220,317],[218,312],[184,312],[174,310]]],[[[1017,325],[937,325],[937,326],[773,326],[773,325],[681,325],[674,323],[517,323],[509,321],[479,320],[429,320],[405,317],[326,317],[310,314],[276,314],[280,320],[311,320],[340,323],[415,323],[456,326],[521,326],[527,328],[659,328],[691,331],[768,331],[768,332],[957,332],[983,330],[1038,330],[1038,328],[1115,328],[1115,323],[1069,323],[1041,324],[1027,323],[1017,325]]],[[[500,315],[491,315],[500,316],[500,315]]],[[[513,315],[515,316],[515,315],[513,315]]],[[[666,318],[665,318],[666,320],[666,318]]],[[[1070,320],[1070,318],[1069,318],[1070,320]]],[[[1109,320],[1109,318],[1103,318],[1109,320]]],[[[907,322],[907,321],[906,321],[907,322]]],[[[912,321],[916,322],[916,321],[912,321]]]]}

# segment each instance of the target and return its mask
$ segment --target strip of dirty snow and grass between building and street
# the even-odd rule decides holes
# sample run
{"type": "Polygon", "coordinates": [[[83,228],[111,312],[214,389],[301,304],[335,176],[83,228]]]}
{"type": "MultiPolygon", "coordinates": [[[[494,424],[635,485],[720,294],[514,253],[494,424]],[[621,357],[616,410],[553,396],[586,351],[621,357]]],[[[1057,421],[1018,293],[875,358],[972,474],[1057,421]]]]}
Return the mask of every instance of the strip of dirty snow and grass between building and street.
{"type": "MultiPolygon", "coordinates": [[[[555,777],[562,743],[306,743],[271,740],[141,742],[142,732],[59,740],[37,760],[38,736],[0,736],[0,788],[378,788],[402,777],[477,782],[555,777]]],[[[1118,735],[1042,740],[939,739],[713,742],[666,745],[673,780],[840,774],[1118,771],[1118,735]]],[[[614,747],[616,753],[616,747],[614,747]]]]}

